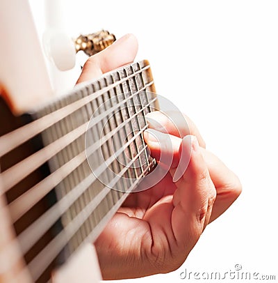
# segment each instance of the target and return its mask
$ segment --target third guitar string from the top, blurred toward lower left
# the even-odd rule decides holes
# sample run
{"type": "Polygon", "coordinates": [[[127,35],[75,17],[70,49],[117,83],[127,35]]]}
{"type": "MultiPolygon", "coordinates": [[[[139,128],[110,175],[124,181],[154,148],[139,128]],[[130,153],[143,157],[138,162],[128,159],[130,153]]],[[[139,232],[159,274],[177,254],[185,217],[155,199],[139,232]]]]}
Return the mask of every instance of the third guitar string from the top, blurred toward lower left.
{"type": "MultiPolygon", "coordinates": [[[[148,103],[148,105],[145,105],[144,108],[148,107],[155,100],[156,100],[156,98],[151,100],[148,103]]],[[[115,130],[118,131],[118,129],[124,128],[124,125],[129,123],[129,121],[132,118],[133,118],[133,116],[131,116],[129,119],[126,119],[126,121],[124,121],[122,124],[117,126],[117,128],[115,130]]],[[[103,143],[112,136],[113,136],[113,132],[110,132],[105,137],[102,137],[100,142],[103,143]]],[[[95,144],[92,144],[90,146],[90,148],[88,148],[88,155],[91,155],[95,151],[95,149],[98,148],[98,147],[99,147],[99,141],[95,142],[95,144]]],[[[127,146],[127,148],[128,148],[128,146],[127,146]]],[[[59,169],[56,169],[56,171],[54,171],[49,176],[44,178],[42,181],[40,181],[40,183],[34,185],[27,192],[25,192],[20,197],[15,199],[12,203],[10,203],[9,207],[10,207],[11,215],[13,216],[14,222],[17,219],[19,219],[19,217],[21,217],[24,213],[26,213],[26,211],[28,211],[28,209],[30,209],[33,206],[34,203],[40,201],[40,199],[42,199],[42,197],[44,197],[50,190],[52,190],[52,188],[54,188],[56,185],[58,185],[58,183],[60,183],[60,181],[63,181],[63,179],[65,178],[65,177],[57,178],[56,176],[59,176],[59,175],[60,176],[64,176],[64,175],[67,176],[77,166],[79,166],[83,161],[85,161],[85,159],[86,159],[86,155],[85,155],[85,151],[83,151],[82,153],[79,153],[79,155],[77,155],[75,158],[73,158],[72,160],[67,162],[65,165],[63,165],[59,169]],[[55,183],[51,184],[52,179],[55,179],[55,178],[56,178],[55,183]],[[47,188],[48,188],[48,190],[47,190],[47,188]]]]}

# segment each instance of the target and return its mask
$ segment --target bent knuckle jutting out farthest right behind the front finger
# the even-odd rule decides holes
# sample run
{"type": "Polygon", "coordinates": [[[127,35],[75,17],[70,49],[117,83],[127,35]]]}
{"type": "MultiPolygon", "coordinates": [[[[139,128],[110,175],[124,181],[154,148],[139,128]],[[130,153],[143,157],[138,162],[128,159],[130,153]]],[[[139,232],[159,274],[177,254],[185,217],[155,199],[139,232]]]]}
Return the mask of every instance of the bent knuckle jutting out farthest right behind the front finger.
{"type": "Polygon", "coordinates": [[[238,176],[227,168],[219,158],[202,148],[201,151],[217,191],[213,211],[211,213],[210,222],[212,222],[233,204],[240,195],[242,187],[238,176]]]}

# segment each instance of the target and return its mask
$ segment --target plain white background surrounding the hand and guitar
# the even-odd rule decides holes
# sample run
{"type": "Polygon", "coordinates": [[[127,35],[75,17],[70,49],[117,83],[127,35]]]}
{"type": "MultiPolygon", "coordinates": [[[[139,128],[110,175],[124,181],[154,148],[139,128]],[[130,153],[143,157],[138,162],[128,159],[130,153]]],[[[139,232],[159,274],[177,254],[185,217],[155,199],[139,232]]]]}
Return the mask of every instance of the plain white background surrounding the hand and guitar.
{"type": "MultiPolygon", "coordinates": [[[[42,30],[42,1],[31,4],[42,30]]],[[[126,281],[186,282],[179,276],[185,268],[224,273],[234,271],[236,263],[243,272],[276,275],[278,280],[278,2],[63,4],[71,36],[102,28],[117,38],[124,33],[137,36],[137,59],[149,59],[158,94],[195,121],[207,148],[238,174],[243,185],[236,203],[206,228],[179,270],[126,281]]],[[[77,64],[70,85],[78,72],[77,64]]]]}

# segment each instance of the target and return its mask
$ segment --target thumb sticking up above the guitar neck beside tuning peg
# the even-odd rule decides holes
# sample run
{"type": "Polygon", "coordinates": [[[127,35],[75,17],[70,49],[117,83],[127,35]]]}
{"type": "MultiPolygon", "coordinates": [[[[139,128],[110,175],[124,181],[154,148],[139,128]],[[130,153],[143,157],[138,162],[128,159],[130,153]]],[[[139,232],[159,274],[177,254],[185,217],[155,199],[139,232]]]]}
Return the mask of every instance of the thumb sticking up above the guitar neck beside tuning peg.
{"type": "Polygon", "coordinates": [[[100,77],[104,72],[109,72],[127,63],[131,63],[137,51],[138,42],[136,37],[132,34],[126,34],[126,36],[116,40],[113,45],[90,56],[83,66],[76,84],[100,77]]]}

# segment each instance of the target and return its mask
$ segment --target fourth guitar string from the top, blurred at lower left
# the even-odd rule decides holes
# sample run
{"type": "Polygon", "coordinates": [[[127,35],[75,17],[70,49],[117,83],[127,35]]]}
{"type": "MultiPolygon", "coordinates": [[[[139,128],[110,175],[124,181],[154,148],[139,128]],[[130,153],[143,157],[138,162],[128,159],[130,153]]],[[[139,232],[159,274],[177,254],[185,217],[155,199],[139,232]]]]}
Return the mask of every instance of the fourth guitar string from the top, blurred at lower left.
{"type": "MultiPolygon", "coordinates": [[[[147,125],[146,125],[146,128],[147,128],[147,125]]],[[[135,137],[136,138],[136,137],[135,137]]],[[[138,154],[137,154],[138,155],[138,154]]],[[[137,156],[136,155],[136,156],[137,156]]],[[[133,160],[136,160],[136,157],[133,158],[133,160]]],[[[133,160],[131,160],[131,162],[129,162],[128,165],[126,165],[126,167],[124,167],[124,172],[129,169],[129,166],[132,165],[133,163],[133,160]]],[[[111,160],[110,160],[111,161],[111,160]]],[[[103,168],[101,169],[99,167],[99,174],[97,175],[96,173],[95,174],[91,174],[90,175],[90,178],[91,178],[91,183],[93,183],[97,177],[97,176],[100,176],[100,174],[106,169],[106,165],[105,164],[102,164],[104,166],[102,166],[103,168]]],[[[119,175],[117,175],[119,176],[119,175]]],[[[115,178],[117,178],[117,176],[115,178]]],[[[115,179],[114,178],[114,179],[115,179]]],[[[82,183],[82,182],[81,182],[82,183]]],[[[79,185],[81,184],[79,183],[79,185]]],[[[77,185],[76,188],[79,186],[77,185]]],[[[108,186],[107,186],[108,187],[108,186]]],[[[73,188],[72,191],[70,192],[71,195],[75,194],[76,193],[76,188],[73,188]]],[[[82,187],[81,187],[82,188],[82,187]]],[[[109,189],[109,188],[108,188],[109,189]]],[[[106,194],[105,194],[106,195],[106,194]]],[[[104,197],[105,197],[104,195],[104,197]]],[[[64,213],[65,211],[63,210],[63,206],[61,204],[60,201],[64,201],[65,202],[65,206],[66,206],[66,209],[69,208],[71,206],[71,204],[73,203],[73,201],[75,201],[78,197],[76,197],[75,199],[73,199],[72,202],[70,202],[72,199],[70,199],[70,201],[68,199],[65,199],[67,198],[67,195],[65,195],[65,197],[63,197],[63,199],[59,200],[56,204],[54,204],[54,206],[52,206],[51,208],[49,208],[49,210],[44,213],[44,215],[41,215],[37,220],[35,220],[35,222],[33,222],[28,228],[26,228],[24,231],[22,231],[21,234],[19,234],[19,236],[17,237],[19,239],[19,241],[22,243],[22,250],[23,252],[26,252],[26,249],[28,250],[31,246],[30,244],[33,244],[32,242],[35,242],[37,241],[44,233],[45,231],[47,231],[47,229],[49,229],[51,227],[52,224],[54,224],[57,220],[57,215],[60,215],[62,213],[64,213]],[[52,215],[52,216],[51,216],[52,215]],[[51,220],[50,220],[50,217],[51,217],[51,220]],[[43,225],[42,225],[43,224],[43,225]],[[42,226],[42,227],[41,227],[42,226]],[[38,229],[35,229],[34,227],[39,227],[38,229]],[[34,230],[35,229],[35,230],[34,230]],[[36,237],[36,238],[35,238],[36,237]],[[31,240],[31,239],[34,239],[34,240],[31,240]]],[[[92,201],[96,201],[95,199],[97,199],[96,197],[92,200],[92,201]]],[[[91,201],[91,203],[92,203],[91,201]]]]}

